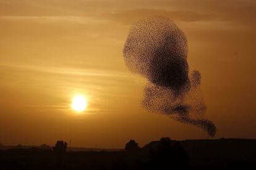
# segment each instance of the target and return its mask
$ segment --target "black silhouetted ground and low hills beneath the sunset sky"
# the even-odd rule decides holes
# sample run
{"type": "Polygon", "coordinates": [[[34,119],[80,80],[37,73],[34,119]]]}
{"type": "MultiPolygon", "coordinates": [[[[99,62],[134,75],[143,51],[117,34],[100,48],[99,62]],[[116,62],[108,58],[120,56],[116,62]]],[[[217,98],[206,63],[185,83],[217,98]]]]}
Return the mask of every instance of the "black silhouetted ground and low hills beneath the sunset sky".
{"type": "Polygon", "coordinates": [[[79,151],[76,148],[72,151],[70,148],[67,152],[1,146],[0,169],[256,168],[254,139],[179,142],[161,139],[142,148],[136,148],[135,141],[129,143],[125,150],[79,151]]]}

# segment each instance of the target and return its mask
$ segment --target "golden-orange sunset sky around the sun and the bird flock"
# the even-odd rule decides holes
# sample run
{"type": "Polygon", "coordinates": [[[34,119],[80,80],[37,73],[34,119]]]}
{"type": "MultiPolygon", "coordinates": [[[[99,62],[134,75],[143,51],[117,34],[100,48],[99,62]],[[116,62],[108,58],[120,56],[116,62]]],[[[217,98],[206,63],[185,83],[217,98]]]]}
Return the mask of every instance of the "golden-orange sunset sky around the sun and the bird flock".
{"type": "Polygon", "coordinates": [[[256,138],[256,1],[0,0],[0,144],[123,148],[161,137],[211,139],[142,108],[147,80],[122,49],[130,26],[162,15],[187,36],[215,138],[256,138]],[[87,110],[70,107],[84,95],[87,110]]]}

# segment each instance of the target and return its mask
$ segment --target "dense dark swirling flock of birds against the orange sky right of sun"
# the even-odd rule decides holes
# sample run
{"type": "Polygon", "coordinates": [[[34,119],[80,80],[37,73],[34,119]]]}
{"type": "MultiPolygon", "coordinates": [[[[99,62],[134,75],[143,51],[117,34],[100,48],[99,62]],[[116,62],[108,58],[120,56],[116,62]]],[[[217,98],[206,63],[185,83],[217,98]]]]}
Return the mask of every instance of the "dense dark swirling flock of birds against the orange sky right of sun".
{"type": "Polygon", "coordinates": [[[200,93],[200,72],[194,70],[189,75],[187,38],[172,20],[148,17],[136,22],[123,54],[129,70],[148,79],[144,108],[215,136],[215,124],[203,118],[206,107],[200,93]]]}

